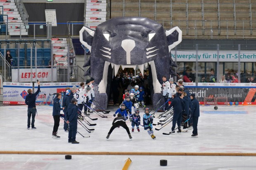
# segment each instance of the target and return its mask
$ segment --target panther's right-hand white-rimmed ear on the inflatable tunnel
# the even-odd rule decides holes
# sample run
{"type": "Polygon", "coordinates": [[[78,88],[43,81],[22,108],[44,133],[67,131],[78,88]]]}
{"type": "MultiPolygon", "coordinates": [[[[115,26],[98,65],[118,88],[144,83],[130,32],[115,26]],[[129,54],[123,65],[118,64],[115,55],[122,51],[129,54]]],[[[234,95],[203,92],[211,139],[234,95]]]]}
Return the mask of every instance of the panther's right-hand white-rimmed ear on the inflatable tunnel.
{"type": "Polygon", "coordinates": [[[168,41],[168,48],[169,52],[173,49],[176,45],[180,44],[182,41],[182,31],[178,27],[174,27],[171,30],[165,31],[167,41],[168,41]]]}

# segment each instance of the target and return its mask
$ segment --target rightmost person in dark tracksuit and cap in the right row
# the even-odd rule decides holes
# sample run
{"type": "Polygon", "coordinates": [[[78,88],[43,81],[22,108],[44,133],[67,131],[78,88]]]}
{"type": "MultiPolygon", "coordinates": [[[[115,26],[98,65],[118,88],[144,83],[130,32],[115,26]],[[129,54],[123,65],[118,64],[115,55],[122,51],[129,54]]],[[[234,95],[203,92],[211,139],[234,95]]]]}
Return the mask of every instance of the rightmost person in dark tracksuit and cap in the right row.
{"type": "Polygon", "coordinates": [[[200,116],[200,109],[199,109],[199,102],[197,101],[197,99],[195,98],[195,94],[192,93],[190,95],[191,98],[191,105],[190,105],[190,109],[191,109],[191,117],[192,117],[192,126],[193,126],[193,134],[191,135],[191,137],[198,137],[197,136],[197,123],[198,123],[198,118],[200,116]]]}

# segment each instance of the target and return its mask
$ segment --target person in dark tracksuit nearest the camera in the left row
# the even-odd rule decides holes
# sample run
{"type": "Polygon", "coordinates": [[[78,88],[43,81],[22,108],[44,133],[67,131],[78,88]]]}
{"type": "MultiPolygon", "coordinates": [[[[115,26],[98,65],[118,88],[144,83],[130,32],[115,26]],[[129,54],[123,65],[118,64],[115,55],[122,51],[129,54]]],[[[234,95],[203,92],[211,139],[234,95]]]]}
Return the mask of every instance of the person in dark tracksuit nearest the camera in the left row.
{"type": "Polygon", "coordinates": [[[76,141],[76,131],[77,131],[77,100],[72,98],[71,103],[68,106],[68,114],[69,120],[66,123],[69,123],[69,142],[72,144],[78,144],[79,142],[76,141]]]}

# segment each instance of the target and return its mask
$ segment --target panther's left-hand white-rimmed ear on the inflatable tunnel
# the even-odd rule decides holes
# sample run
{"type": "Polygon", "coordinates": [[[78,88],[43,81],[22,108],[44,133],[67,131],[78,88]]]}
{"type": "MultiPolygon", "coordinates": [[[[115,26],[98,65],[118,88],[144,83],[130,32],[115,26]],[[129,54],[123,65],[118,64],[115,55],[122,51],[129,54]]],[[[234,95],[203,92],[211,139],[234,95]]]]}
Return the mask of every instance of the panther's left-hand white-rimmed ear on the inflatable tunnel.
{"type": "Polygon", "coordinates": [[[90,50],[92,49],[92,39],[94,36],[95,31],[91,30],[88,27],[83,26],[83,28],[79,31],[79,37],[80,37],[80,42],[90,50]]]}

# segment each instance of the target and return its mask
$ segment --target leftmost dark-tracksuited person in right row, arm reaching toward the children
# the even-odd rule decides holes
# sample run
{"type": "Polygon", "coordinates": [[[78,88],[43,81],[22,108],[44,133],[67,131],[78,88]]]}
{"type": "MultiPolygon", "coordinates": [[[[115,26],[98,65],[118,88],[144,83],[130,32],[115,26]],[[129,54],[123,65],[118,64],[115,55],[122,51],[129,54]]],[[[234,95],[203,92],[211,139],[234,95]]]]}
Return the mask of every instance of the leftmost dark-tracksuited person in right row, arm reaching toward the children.
{"type": "MultiPolygon", "coordinates": [[[[176,97],[175,93],[172,93],[172,100],[171,100],[171,105],[169,105],[166,110],[171,109],[173,107],[173,126],[171,128],[172,133],[175,133],[175,125],[177,122],[178,127],[180,126],[181,123],[181,114],[182,114],[182,104],[181,104],[181,99],[180,97],[176,97]]],[[[178,132],[181,132],[181,129],[178,128],[178,132]]]]}

